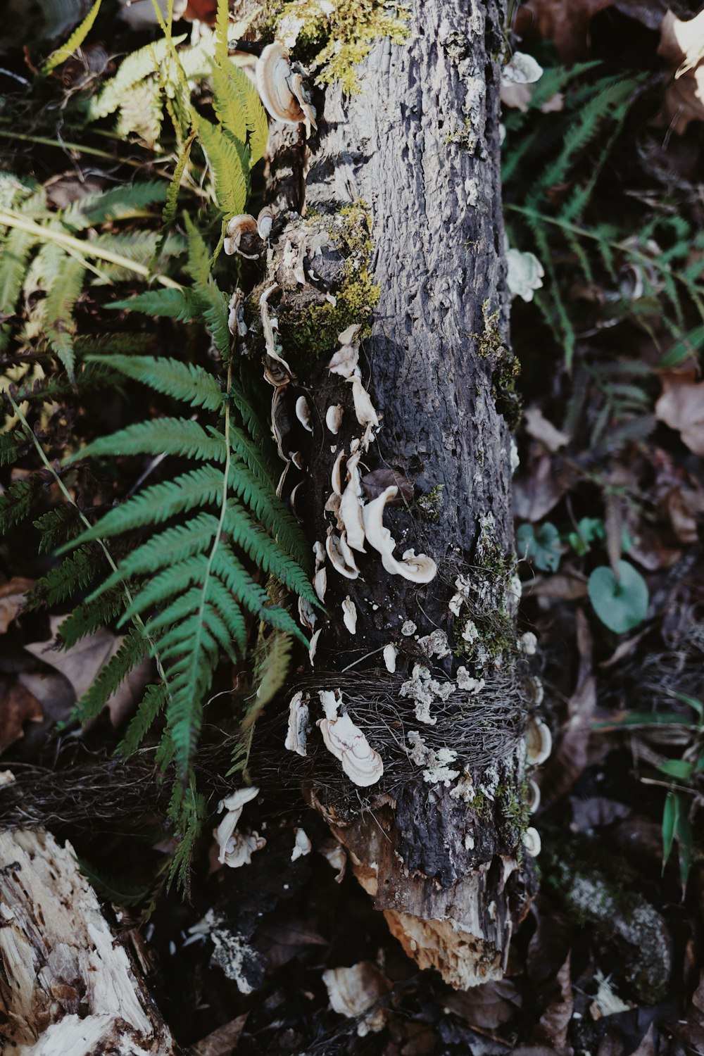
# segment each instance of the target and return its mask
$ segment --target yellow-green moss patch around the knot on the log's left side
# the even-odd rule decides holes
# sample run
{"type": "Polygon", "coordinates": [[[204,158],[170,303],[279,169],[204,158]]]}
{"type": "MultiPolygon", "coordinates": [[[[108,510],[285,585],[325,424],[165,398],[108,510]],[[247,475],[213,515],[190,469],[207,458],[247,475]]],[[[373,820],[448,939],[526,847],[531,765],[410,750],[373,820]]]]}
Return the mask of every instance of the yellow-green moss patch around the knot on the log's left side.
{"type": "MultiPolygon", "coordinates": [[[[315,219],[316,222],[320,218],[315,219]]],[[[361,323],[362,336],[369,333],[369,317],[379,303],[380,287],[372,281],[369,261],[373,242],[369,214],[363,202],[334,213],[327,232],[344,258],[344,278],[336,291],[336,303],[325,301],[303,309],[282,309],[279,332],[286,358],[298,370],[310,367],[338,347],[338,335],[351,323],[361,323]]]]}

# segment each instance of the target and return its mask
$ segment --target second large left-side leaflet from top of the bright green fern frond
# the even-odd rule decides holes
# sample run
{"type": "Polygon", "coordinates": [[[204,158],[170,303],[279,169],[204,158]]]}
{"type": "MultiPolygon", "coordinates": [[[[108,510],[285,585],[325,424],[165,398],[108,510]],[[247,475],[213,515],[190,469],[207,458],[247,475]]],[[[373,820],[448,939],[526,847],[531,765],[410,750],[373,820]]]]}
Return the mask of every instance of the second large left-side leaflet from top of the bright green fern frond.
{"type": "Polygon", "coordinates": [[[196,421],[184,418],[155,418],[99,436],[82,451],[64,459],[64,465],[101,455],[175,455],[179,458],[198,458],[202,461],[225,460],[225,437],[215,430],[208,433],[196,421]]]}

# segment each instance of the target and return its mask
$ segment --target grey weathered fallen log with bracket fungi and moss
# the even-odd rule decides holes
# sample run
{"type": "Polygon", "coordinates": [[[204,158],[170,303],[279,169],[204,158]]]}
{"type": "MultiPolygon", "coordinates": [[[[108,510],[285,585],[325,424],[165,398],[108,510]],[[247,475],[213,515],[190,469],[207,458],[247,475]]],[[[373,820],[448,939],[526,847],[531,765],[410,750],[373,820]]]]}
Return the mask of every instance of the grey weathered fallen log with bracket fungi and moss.
{"type": "MultiPolygon", "coordinates": [[[[304,222],[308,243],[289,214],[274,245],[279,260],[286,243],[289,250],[302,246],[307,283],[287,284],[280,269],[277,314],[288,358],[287,335],[296,336],[297,320],[303,325],[311,299],[322,303],[321,279],[337,297],[347,281],[330,279],[330,261],[311,251],[310,231],[341,209],[368,227],[380,297],[361,341],[361,378],[328,370],[337,333],[319,364],[298,372],[306,376],[300,391],[312,425],[298,508],[305,507],[311,540],[323,547],[330,533],[339,540],[346,522],[332,493],[334,465],[344,491],[357,479],[350,456],[361,454],[367,507],[379,490],[398,485],[401,505],[383,512],[397,562],[408,549],[422,551],[437,573],[426,583],[389,573],[367,532],[366,552],[353,554],[359,576],[346,560],[340,574],[328,547],[315,675],[296,689],[311,722],[323,719],[322,702],[331,706],[329,696],[319,703],[319,691],[339,691],[335,708],[350,716],[384,767],[378,782],[356,788],[339,762],[325,759],[316,733],[307,749],[316,758],[310,802],[406,951],[468,986],[501,976],[534,887],[522,847],[526,706],[512,597],[507,418],[513,420],[516,396],[502,265],[501,12],[493,2],[417,0],[411,29],[405,45],[375,45],[359,71],[359,94],[325,92],[305,206],[299,204],[313,215],[304,222]],[[368,409],[357,413],[360,384],[378,430],[364,430],[368,409]],[[337,434],[326,426],[331,406],[343,408],[337,434]],[[384,473],[369,479],[376,470],[384,473]]],[[[281,204],[278,172],[290,173],[290,166],[278,166],[275,137],[273,144],[270,181],[281,204]]],[[[294,206],[290,197],[287,204],[294,206]]],[[[342,256],[355,245],[347,242],[342,256]]],[[[347,354],[356,353],[355,336],[345,340],[347,354]]]]}

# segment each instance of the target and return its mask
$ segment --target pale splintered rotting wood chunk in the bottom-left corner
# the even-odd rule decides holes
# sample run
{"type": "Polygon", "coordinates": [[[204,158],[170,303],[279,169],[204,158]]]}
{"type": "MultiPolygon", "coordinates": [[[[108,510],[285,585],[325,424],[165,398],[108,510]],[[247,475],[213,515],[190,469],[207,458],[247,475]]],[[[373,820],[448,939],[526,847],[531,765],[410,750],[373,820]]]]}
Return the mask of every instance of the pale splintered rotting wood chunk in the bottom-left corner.
{"type": "Polygon", "coordinates": [[[180,1052],[71,845],[61,846],[42,829],[3,832],[0,863],[2,1051],[180,1052]]]}

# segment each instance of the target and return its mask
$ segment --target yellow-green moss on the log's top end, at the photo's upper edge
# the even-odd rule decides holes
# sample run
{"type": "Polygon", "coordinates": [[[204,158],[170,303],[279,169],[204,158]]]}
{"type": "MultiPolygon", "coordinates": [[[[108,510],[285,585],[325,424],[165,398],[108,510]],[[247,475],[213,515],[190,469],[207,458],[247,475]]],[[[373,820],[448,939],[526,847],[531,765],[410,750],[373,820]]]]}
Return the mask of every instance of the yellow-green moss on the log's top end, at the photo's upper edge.
{"type": "Polygon", "coordinates": [[[337,80],[347,93],[359,91],[356,67],[375,41],[388,37],[403,43],[411,36],[411,12],[383,0],[336,0],[335,4],[269,0],[266,15],[280,40],[296,40],[296,55],[317,71],[318,84],[337,80]]]}

